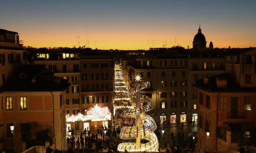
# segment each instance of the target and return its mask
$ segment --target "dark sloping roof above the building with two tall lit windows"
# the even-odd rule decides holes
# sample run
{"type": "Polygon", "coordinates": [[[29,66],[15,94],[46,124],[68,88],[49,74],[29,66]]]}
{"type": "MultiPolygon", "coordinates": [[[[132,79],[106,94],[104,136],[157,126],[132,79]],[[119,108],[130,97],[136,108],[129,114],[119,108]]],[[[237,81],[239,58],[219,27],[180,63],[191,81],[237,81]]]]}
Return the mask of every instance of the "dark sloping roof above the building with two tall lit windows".
{"type": "Polygon", "coordinates": [[[67,80],[54,77],[46,70],[45,65],[22,65],[0,91],[65,91],[68,88],[67,80]]]}

